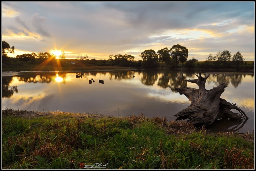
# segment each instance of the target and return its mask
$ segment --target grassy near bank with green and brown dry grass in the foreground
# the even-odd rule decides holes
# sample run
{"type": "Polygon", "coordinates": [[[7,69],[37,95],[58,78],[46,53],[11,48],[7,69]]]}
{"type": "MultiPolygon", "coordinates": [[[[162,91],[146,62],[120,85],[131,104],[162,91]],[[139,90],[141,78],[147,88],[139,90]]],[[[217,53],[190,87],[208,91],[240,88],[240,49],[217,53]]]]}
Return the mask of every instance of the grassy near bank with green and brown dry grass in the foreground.
{"type": "Polygon", "coordinates": [[[143,115],[24,113],[2,110],[2,168],[254,169],[254,134],[143,115]]]}

